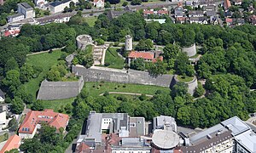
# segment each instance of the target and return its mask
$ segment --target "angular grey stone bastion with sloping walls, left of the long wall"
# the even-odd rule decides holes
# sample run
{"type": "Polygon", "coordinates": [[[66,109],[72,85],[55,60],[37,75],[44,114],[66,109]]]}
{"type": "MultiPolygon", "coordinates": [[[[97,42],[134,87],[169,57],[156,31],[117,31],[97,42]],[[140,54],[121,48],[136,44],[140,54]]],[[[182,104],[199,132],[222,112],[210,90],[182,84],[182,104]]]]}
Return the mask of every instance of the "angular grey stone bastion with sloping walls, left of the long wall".
{"type": "Polygon", "coordinates": [[[37,99],[68,99],[76,97],[84,86],[83,77],[77,82],[48,82],[41,83],[37,99]]]}

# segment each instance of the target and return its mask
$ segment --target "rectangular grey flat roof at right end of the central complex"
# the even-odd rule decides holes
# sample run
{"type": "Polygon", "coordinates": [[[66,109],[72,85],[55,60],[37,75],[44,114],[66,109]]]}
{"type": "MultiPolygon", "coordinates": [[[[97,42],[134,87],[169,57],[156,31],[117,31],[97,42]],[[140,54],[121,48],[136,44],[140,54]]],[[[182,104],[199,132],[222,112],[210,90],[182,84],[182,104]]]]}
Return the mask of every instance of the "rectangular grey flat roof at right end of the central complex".
{"type": "Polygon", "coordinates": [[[145,118],[130,117],[130,137],[140,137],[145,135],[145,118]]]}

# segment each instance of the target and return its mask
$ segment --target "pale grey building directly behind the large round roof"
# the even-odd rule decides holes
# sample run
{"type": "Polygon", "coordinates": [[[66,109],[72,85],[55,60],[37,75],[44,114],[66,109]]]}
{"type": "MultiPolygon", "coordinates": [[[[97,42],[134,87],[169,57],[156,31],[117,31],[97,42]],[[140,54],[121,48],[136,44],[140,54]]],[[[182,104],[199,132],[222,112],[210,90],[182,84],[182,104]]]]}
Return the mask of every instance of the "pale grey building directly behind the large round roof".
{"type": "Polygon", "coordinates": [[[177,132],[177,124],[172,116],[156,116],[153,118],[153,131],[155,129],[163,129],[165,124],[169,123],[172,131],[177,132]]]}

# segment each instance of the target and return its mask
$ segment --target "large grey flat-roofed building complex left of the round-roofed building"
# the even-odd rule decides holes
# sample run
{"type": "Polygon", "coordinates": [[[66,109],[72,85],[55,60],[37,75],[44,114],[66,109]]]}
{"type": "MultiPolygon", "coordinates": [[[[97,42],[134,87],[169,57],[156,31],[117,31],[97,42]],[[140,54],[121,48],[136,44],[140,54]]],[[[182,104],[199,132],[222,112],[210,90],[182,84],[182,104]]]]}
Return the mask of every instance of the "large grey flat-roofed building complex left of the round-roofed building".
{"type": "Polygon", "coordinates": [[[79,135],[76,152],[149,153],[151,147],[140,138],[143,135],[144,117],[90,111],[86,131],[79,135]]]}

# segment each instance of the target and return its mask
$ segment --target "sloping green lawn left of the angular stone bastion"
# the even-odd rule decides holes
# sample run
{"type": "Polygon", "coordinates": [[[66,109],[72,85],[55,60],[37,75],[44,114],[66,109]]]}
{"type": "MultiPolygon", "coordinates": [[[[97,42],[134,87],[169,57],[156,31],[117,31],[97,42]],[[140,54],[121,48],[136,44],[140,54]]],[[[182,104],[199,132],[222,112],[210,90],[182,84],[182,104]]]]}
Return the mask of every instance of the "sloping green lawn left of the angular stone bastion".
{"type": "Polygon", "coordinates": [[[29,82],[24,84],[26,93],[32,94],[34,97],[36,97],[40,83],[44,80],[49,68],[52,65],[56,65],[60,57],[61,50],[55,50],[51,54],[35,54],[26,58],[26,63],[30,65],[39,65],[44,69],[44,71],[42,71],[37,78],[32,78],[29,82]]]}

